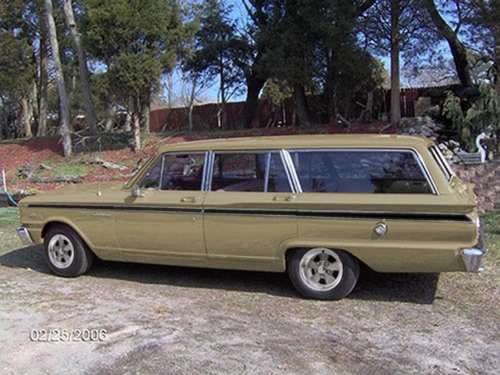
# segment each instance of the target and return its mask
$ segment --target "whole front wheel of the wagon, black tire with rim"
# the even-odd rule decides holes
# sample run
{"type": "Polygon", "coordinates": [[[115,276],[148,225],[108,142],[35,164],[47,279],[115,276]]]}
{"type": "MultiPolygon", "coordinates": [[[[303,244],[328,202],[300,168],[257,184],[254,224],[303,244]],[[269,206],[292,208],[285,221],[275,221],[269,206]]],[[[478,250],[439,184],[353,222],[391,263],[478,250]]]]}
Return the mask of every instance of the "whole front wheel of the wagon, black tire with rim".
{"type": "Polygon", "coordinates": [[[94,254],[81,237],[65,225],[49,229],[44,238],[44,256],[50,270],[64,277],[86,273],[94,261],[94,254]]]}

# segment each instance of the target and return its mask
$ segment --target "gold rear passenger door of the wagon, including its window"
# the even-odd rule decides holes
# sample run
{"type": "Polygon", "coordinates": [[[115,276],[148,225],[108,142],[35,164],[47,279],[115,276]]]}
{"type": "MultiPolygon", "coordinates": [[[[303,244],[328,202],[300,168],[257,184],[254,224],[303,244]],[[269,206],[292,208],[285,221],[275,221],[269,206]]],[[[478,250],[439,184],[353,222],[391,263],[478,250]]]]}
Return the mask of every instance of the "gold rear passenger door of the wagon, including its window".
{"type": "MultiPolygon", "coordinates": [[[[296,194],[279,151],[214,152],[204,203],[208,257],[277,261],[297,234],[296,194]]],[[[251,268],[251,266],[250,266],[251,268]]]]}

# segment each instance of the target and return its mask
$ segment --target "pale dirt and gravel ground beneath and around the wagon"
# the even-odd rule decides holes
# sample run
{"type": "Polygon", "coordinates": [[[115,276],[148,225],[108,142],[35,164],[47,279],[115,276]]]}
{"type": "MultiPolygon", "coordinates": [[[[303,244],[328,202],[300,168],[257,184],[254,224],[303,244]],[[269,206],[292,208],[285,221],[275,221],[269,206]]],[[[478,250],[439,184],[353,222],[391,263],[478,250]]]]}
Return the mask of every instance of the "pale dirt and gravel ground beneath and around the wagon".
{"type": "Polygon", "coordinates": [[[299,298],[284,274],[98,262],[59,278],[40,248],[21,246],[9,215],[2,374],[500,373],[500,233],[488,237],[482,274],[366,271],[349,298],[322,302],[299,298]],[[40,329],[107,337],[31,341],[40,329]]]}

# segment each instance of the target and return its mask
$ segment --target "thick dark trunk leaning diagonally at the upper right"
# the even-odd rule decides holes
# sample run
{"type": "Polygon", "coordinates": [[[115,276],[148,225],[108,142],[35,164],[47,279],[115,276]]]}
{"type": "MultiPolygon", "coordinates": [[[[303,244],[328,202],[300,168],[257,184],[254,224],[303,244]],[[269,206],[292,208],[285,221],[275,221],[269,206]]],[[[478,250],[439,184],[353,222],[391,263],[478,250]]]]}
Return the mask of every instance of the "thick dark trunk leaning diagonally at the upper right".
{"type": "Polygon", "coordinates": [[[432,23],[450,46],[450,51],[455,63],[458,79],[462,86],[472,86],[469,62],[467,60],[467,49],[458,38],[457,33],[446,23],[436,8],[434,0],[424,0],[424,6],[431,17],[432,23]]]}

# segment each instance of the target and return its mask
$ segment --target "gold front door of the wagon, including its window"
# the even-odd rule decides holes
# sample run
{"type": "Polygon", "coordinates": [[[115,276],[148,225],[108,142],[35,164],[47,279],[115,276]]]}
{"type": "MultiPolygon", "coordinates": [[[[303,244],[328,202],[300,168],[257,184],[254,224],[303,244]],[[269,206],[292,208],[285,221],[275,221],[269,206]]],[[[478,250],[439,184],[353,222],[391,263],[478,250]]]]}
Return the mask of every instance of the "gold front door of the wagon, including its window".
{"type": "Polygon", "coordinates": [[[117,238],[125,259],[156,263],[206,258],[206,193],[201,186],[205,159],[205,153],[162,155],[139,182],[142,196],[129,196],[117,207],[117,238]]]}

